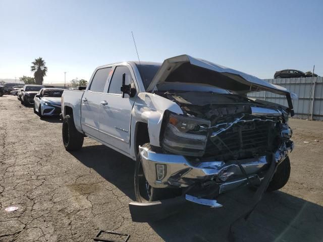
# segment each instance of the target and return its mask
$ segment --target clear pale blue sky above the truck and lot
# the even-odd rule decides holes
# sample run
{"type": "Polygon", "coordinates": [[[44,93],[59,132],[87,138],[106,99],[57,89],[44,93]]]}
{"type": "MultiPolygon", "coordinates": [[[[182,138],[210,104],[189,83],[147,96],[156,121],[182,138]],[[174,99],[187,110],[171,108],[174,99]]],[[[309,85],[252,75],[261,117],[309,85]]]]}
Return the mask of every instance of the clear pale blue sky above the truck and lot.
{"type": "Polygon", "coordinates": [[[179,54],[259,78],[298,69],[323,76],[323,1],[0,0],[0,78],[31,76],[43,57],[44,82],[88,80],[95,67],[179,54]]]}

